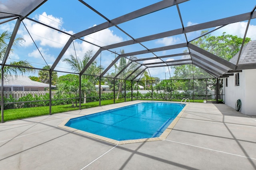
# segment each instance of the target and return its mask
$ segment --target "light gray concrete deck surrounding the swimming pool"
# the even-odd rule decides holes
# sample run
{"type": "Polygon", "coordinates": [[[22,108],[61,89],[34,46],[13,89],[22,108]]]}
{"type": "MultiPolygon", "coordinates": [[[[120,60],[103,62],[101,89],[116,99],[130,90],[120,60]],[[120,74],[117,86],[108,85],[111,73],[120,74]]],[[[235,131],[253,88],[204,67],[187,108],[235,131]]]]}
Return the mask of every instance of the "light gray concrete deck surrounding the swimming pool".
{"type": "Polygon", "coordinates": [[[256,169],[256,117],[190,103],[164,140],[111,144],[58,127],[65,119],[142,101],[0,124],[1,170],[256,169]]]}

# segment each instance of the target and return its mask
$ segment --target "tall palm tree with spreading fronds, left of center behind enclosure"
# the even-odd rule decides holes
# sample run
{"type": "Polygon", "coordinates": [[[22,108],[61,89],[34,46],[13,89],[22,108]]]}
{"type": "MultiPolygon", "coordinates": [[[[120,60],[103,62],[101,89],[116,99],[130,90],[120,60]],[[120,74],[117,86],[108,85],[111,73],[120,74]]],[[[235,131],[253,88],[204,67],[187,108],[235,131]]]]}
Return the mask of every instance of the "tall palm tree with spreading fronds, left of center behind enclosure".
{"type": "MultiPolygon", "coordinates": [[[[82,60],[78,57],[74,57],[74,55],[70,55],[70,58],[63,59],[71,68],[75,71],[75,73],[80,73],[82,69],[86,66],[86,64],[92,59],[92,50],[86,51],[82,60]]],[[[86,69],[84,74],[82,75],[82,79],[87,79],[94,84],[98,83],[99,79],[93,75],[99,75],[104,68],[101,65],[97,65],[97,61],[94,60],[91,65],[86,69]],[[88,76],[91,75],[91,76],[88,76]]],[[[86,103],[86,91],[84,91],[84,103],[86,103]]]]}

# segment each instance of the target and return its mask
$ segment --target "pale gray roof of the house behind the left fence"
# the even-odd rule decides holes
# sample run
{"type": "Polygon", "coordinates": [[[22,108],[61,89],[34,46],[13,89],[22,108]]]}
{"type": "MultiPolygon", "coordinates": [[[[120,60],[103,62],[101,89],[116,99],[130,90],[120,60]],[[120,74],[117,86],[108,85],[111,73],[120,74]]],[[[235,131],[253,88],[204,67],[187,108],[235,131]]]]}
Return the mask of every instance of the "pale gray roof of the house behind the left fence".
{"type": "MultiPolygon", "coordinates": [[[[22,86],[22,87],[49,87],[49,84],[40,83],[37,81],[31,80],[27,76],[11,76],[4,79],[4,86],[22,86]]],[[[52,87],[56,87],[52,85],[52,87]]]]}

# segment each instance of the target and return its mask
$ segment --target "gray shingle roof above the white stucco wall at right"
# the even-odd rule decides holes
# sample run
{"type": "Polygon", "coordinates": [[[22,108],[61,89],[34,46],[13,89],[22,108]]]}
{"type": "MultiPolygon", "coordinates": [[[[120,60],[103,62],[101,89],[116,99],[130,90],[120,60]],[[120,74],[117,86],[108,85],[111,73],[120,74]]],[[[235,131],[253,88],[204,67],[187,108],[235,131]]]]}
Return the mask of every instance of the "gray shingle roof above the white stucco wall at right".
{"type": "MultiPolygon", "coordinates": [[[[239,52],[230,59],[230,62],[236,64],[239,52]]],[[[242,49],[238,64],[256,63],[256,41],[248,42],[242,49]]]]}

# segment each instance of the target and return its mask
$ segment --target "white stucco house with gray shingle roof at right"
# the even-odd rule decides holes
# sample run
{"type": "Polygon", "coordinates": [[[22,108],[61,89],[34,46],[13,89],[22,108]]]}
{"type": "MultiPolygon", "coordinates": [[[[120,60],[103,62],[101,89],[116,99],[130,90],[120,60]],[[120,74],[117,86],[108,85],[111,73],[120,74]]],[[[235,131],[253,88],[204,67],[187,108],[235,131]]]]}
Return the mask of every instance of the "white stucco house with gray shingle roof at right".
{"type": "MultiPolygon", "coordinates": [[[[236,64],[238,54],[230,59],[236,64]]],[[[247,43],[241,52],[239,64],[256,63],[256,41],[247,43]]],[[[239,69],[239,68],[238,68],[239,69]]],[[[242,101],[241,113],[256,115],[256,69],[243,69],[242,72],[234,73],[234,76],[224,78],[224,102],[226,105],[235,108],[236,101],[242,101]]]]}

